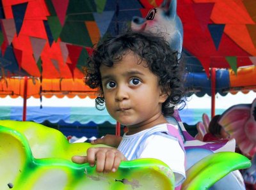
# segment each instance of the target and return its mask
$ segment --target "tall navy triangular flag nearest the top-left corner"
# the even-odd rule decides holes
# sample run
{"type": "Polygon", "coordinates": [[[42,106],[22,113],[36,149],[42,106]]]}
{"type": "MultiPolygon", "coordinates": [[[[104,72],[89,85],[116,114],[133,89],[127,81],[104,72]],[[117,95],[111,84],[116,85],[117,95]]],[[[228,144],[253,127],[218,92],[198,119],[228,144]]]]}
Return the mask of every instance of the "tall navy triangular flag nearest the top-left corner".
{"type": "Polygon", "coordinates": [[[15,4],[12,6],[13,18],[15,21],[17,35],[19,35],[19,33],[20,33],[20,29],[23,24],[27,6],[28,6],[28,2],[21,3],[21,4],[15,4]]]}

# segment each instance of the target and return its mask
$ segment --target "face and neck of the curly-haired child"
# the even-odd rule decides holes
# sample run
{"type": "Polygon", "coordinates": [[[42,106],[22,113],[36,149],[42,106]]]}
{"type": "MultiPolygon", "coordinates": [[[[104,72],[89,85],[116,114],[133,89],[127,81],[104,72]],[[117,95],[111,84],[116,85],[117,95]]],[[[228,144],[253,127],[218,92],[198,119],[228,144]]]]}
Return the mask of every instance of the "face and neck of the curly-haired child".
{"type": "Polygon", "coordinates": [[[138,62],[138,57],[128,52],[112,67],[100,66],[106,108],[129,128],[129,134],[166,122],[161,106],[167,95],[147,64],[138,62]]]}

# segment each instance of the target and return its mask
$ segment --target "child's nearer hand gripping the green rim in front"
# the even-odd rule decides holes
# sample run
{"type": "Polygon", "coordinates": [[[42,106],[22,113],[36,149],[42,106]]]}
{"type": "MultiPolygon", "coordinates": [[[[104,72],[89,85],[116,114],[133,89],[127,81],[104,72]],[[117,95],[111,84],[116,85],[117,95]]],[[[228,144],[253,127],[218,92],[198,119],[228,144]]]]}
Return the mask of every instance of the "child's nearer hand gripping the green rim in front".
{"type": "Polygon", "coordinates": [[[96,164],[97,172],[116,172],[121,161],[127,160],[119,150],[115,148],[97,147],[89,148],[87,156],[73,156],[72,161],[77,164],[89,163],[90,166],[96,164]]]}

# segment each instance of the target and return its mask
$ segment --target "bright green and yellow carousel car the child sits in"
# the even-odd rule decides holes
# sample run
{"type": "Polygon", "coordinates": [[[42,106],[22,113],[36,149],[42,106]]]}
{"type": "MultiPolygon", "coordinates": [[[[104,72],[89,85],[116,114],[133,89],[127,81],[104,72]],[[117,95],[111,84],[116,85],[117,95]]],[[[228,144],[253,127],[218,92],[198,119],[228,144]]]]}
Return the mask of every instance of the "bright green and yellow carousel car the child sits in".
{"type": "MultiPolygon", "coordinates": [[[[99,145],[69,143],[60,131],[35,122],[0,121],[0,189],[174,189],[172,170],[157,159],[123,161],[106,174],[71,161],[92,146],[99,145]]],[[[186,171],[182,189],[208,189],[250,165],[235,152],[211,154],[186,171]]]]}

